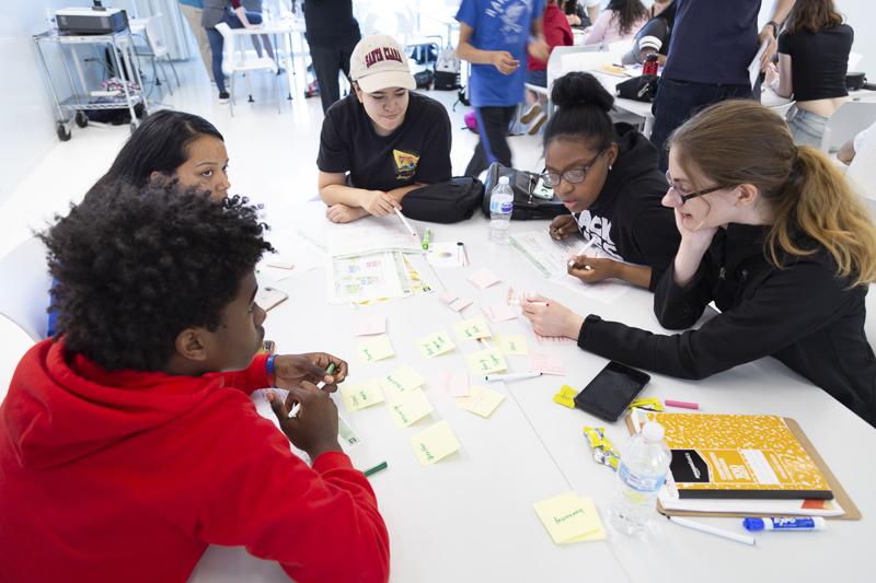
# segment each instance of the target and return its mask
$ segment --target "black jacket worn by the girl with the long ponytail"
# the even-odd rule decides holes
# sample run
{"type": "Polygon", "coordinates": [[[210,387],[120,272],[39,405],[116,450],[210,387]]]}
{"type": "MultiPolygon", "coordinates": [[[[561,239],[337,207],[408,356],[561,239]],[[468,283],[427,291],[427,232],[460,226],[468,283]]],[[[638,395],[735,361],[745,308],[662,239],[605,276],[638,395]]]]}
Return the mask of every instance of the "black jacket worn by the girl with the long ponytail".
{"type": "MultiPolygon", "coordinates": [[[[654,295],[665,328],[693,326],[715,301],[722,314],[699,329],[665,336],[588,316],[578,346],[632,366],[704,378],[772,355],[876,427],[876,357],[864,335],[867,287],[849,288],[831,256],[800,240],[812,255],[764,256],[761,226],[721,230],[687,289],[670,267],[654,295]]],[[[800,244],[798,242],[798,244],[800,244]]]]}

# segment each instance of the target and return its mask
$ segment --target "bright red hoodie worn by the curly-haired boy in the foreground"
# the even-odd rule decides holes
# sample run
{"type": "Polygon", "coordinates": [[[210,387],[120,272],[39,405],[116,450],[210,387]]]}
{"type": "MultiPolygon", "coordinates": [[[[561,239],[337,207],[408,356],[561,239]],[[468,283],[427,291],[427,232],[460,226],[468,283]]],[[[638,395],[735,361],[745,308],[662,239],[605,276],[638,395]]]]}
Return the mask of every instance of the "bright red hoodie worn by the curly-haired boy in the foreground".
{"type": "Polygon", "coordinates": [[[0,406],[0,579],[185,581],[216,544],[300,583],[387,581],[365,476],[343,453],[308,467],[250,400],[265,358],[191,377],[33,347],[0,406]]]}

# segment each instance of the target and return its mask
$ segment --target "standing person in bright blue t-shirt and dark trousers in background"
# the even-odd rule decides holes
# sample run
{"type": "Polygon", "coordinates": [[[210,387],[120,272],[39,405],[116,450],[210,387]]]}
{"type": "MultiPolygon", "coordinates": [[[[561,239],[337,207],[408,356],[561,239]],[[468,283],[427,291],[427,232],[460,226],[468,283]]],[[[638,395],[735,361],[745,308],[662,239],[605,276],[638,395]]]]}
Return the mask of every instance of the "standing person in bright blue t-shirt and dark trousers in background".
{"type": "Polygon", "coordinates": [[[477,176],[493,162],[511,166],[508,125],[523,101],[527,50],[548,60],[542,35],[544,0],[462,0],[457,56],[472,63],[470,98],[481,141],[466,176],[477,176]]]}

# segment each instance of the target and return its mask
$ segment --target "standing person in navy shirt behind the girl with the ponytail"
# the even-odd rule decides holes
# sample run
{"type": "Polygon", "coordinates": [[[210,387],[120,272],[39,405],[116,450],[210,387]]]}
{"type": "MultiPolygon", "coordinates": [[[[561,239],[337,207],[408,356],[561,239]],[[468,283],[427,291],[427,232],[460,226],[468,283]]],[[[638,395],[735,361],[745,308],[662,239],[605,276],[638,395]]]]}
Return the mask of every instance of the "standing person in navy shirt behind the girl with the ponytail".
{"type": "Polygon", "coordinates": [[[676,22],[666,68],[654,98],[650,141],[660,152],[666,171],[665,142],[696,112],[731,98],[760,100],[752,91],[748,66],[758,48],[765,70],[776,50],[782,22],[795,0],[774,0],[770,22],[758,32],[761,0],[677,0],[676,22]]]}

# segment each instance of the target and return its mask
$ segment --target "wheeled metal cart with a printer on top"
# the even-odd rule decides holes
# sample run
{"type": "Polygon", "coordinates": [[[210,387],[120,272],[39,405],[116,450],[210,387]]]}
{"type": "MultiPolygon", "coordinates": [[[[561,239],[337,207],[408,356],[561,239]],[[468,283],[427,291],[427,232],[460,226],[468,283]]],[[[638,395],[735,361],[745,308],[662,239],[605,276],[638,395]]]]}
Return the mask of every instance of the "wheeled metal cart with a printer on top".
{"type": "Polygon", "coordinates": [[[48,85],[51,90],[51,96],[55,100],[55,110],[57,114],[57,133],[58,139],[67,141],[71,137],[71,124],[80,128],[84,128],[89,124],[89,118],[85,110],[94,109],[128,109],[130,114],[130,130],[137,129],[139,121],[135,113],[135,106],[142,103],[143,114],[148,112],[146,95],[142,93],[142,79],[140,78],[140,70],[137,67],[137,61],[134,55],[134,37],[130,34],[130,28],[126,27],[112,34],[102,35],[65,35],[58,34],[58,31],[46,31],[33,36],[34,44],[36,45],[36,53],[39,55],[39,61],[43,66],[43,71],[48,80],[48,85]],[[67,73],[67,81],[70,84],[70,97],[61,101],[55,81],[51,78],[51,70],[48,67],[46,57],[43,53],[42,45],[44,43],[51,43],[61,48],[64,61],[64,70],[67,73]],[[124,95],[117,96],[102,96],[101,101],[95,102],[95,96],[88,91],[85,77],[82,73],[82,66],[79,62],[77,55],[78,45],[102,45],[110,47],[112,55],[112,65],[115,68],[116,74],[122,80],[124,95]],[[70,59],[67,57],[67,51],[64,47],[69,48],[70,59]],[[73,61],[77,72],[77,80],[70,73],[68,60],[73,61]],[[129,88],[128,83],[132,82],[139,90],[135,91],[129,88]]]}

